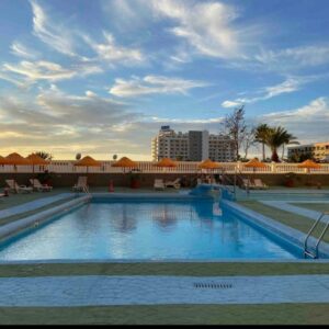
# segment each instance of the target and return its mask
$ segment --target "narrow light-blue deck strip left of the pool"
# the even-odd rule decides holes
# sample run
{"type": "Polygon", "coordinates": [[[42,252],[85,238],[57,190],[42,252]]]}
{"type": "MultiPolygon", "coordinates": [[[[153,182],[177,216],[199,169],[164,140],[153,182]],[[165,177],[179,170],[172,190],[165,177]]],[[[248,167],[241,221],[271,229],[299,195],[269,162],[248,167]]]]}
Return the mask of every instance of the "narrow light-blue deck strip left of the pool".
{"type": "Polygon", "coordinates": [[[53,196],[46,196],[46,197],[41,197],[14,207],[10,207],[3,211],[0,211],[0,219],[14,216],[14,215],[20,215],[26,212],[35,211],[37,208],[44,207],[50,203],[57,202],[59,200],[65,200],[68,198],[69,196],[72,196],[73,193],[61,193],[53,196]]]}

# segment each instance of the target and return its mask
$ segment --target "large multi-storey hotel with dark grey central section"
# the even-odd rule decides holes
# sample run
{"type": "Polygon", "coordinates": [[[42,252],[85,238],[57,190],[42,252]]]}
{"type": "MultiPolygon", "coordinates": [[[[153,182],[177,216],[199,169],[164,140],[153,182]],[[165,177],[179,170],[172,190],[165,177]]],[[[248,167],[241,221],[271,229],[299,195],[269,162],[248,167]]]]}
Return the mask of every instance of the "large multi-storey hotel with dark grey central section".
{"type": "Polygon", "coordinates": [[[152,138],[151,152],[154,161],[171,158],[181,161],[228,162],[235,157],[232,140],[225,135],[209,134],[207,131],[190,131],[175,133],[170,126],[162,126],[152,138]]]}

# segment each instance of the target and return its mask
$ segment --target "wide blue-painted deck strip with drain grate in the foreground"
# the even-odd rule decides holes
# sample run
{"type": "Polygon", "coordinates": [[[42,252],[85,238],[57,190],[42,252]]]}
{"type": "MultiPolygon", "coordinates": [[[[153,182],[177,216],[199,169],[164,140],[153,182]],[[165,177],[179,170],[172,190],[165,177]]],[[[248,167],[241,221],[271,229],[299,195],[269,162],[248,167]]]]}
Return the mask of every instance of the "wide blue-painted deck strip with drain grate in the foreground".
{"type": "Polygon", "coordinates": [[[0,306],[329,303],[329,275],[0,279],[0,306]]]}

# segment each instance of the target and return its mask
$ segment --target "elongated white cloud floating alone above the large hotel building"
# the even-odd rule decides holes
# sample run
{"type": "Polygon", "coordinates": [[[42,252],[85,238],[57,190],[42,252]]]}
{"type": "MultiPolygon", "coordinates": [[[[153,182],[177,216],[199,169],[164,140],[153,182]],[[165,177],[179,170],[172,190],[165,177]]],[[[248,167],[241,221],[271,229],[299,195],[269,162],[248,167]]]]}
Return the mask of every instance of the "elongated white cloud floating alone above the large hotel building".
{"type": "Polygon", "coordinates": [[[162,76],[134,77],[132,80],[116,79],[110,93],[116,97],[138,97],[154,93],[186,94],[190,89],[206,87],[203,81],[168,78],[162,76]]]}

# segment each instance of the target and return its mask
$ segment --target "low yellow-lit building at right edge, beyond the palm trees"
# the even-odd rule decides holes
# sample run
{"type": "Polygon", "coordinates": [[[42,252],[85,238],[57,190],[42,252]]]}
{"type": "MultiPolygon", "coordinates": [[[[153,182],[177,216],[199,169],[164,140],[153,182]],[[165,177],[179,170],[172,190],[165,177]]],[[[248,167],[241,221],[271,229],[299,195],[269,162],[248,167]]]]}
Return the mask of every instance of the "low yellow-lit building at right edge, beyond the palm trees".
{"type": "Polygon", "coordinates": [[[329,161],[329,141],[288,147],[288,158],[294,155],[300,156],[307,154],[311,154],[311,156],[318,161],[329,161]]]}

